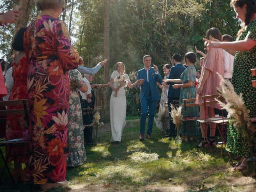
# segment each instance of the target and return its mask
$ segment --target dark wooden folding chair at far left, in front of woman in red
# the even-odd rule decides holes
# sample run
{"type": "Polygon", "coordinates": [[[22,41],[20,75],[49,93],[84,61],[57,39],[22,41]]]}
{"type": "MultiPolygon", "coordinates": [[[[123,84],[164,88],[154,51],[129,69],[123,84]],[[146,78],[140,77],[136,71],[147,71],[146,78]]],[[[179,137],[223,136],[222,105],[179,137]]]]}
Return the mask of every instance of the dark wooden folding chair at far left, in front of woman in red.
{"type": "MultiPolygon", "coordinates": [[[[28,114],[29,114],[28,99],[0,101],[0,106],[17,106],[17,105],[22,105],[23,108],[20,108],[20,109],[10,109],[10,110],[0,110],[0,116],[22,115],[23,114],[26,117],[26,123],[28,125],[29,124],[29,118],[28,118],[28,114]]],[[[28,141],[23,141],[22,138],[17,138],[17,140],[6,140],[6,141],[0,142],[0,147],[6,147],[6,146],[9,147],[8,152],[6,154],[6,157],[4,157],[4,154],[3,154],[3,152],[2,152],[2,150],[0,148],[0,156],[4,160],[4,167],[3,167],[2,171],[0,172],[0,183],[2,182],[2,177],[3,177],[3,174],[4,174],[4,169],[5,168],[7,169],[12,182],[15,183],[14,179],[12,178],[12,174],[10,172],[8,164],[7,164],[8,159],[10,157],[10,152],[11,152],[13,146],[28,146],[28,141]]],[[[28,153],[22,154],[22,155],[28,155],[28,153]]]]}

